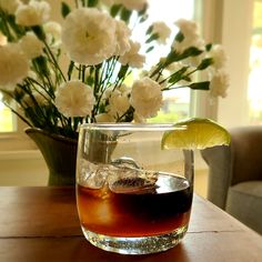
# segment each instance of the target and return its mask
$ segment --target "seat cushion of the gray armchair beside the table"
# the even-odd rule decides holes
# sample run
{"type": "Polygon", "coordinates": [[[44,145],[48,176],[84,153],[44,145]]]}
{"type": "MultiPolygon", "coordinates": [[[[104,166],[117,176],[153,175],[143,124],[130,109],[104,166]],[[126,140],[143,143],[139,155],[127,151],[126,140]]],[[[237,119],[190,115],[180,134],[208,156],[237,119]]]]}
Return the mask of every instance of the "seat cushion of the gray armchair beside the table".
{"type": "Polygon", "coordinates": [[[262,181],[249,181],[229,189],[225,211],[262,234],[262,181]]]}

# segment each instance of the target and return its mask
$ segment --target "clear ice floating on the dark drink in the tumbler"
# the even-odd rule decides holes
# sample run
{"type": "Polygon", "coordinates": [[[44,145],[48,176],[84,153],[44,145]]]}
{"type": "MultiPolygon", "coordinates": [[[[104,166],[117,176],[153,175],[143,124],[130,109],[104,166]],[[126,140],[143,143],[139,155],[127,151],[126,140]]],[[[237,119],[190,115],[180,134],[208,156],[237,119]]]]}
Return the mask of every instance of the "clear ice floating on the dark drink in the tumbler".
{"type": "Polygon", "coordinates": [[[112,164],[95,164],[80,160],[78,183],[90,189],[105,184],[114,193],[141,193],[158,188],[158,172],[137,168],[134,161],[121,159],[112,164]]]}

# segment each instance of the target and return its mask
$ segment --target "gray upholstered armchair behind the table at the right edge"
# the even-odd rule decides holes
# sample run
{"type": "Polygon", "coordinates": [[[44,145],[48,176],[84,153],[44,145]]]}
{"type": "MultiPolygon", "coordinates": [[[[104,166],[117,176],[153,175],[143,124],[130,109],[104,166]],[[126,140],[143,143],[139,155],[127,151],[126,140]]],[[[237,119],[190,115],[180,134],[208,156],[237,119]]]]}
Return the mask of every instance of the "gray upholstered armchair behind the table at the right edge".
{"type": "Polygon", "coordinates": [[[262,125],[230,130],[231,145],[204,149],[208,199],[262,234],[262,125]]]}

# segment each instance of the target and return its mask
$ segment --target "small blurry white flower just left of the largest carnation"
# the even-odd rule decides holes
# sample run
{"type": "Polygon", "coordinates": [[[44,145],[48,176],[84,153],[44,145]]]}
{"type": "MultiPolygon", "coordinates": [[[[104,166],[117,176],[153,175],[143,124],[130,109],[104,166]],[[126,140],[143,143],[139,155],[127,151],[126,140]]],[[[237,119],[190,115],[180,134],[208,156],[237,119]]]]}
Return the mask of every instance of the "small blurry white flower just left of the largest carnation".
{"type": "Polygon", "coordinates": [[[49,21],[43,24],[43,30],[47,36],[47,42],[52,47],[59,47],[61,44],[62,28],[60,23],[49,21]]]}

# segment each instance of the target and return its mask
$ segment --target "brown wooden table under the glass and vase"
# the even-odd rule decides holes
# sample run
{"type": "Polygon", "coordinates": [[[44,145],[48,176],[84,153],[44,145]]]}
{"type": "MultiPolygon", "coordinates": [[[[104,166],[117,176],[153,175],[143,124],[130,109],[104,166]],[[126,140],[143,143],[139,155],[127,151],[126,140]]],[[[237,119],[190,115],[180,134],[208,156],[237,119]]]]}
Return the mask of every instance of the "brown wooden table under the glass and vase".
{"type": "Polygon", "coordinates": [[[261,262],[262,236],[194,195],[190,229],[179,245],[151,255],[121,255],[85,241],[74,188],[0,188],[0,261],[261,262]]]}

